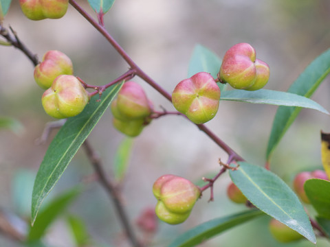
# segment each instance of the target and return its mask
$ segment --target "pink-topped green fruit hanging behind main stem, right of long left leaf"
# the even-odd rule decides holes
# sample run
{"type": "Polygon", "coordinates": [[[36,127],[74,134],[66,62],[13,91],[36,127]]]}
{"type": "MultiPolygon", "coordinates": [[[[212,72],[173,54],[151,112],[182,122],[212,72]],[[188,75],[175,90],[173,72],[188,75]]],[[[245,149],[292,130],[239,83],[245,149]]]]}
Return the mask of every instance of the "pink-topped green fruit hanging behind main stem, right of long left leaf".
{"type": "Polygon", "coordinates": [[[146,97],[140,84],[125,82],[117,99],[111,103],[113,126],[129,137],[137,137],[149,124],[153,104],[146,97]]]}

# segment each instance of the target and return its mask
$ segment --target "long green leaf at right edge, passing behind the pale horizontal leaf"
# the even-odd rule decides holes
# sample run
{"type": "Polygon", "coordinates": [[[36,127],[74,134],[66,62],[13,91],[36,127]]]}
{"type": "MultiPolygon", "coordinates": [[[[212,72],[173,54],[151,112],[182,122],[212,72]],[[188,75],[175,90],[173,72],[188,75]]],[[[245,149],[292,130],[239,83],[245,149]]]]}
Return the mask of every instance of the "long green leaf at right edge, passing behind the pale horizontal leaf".
{"type": "MultiPolygon", "coordinates": [[[[300,74],[298,79],[290,86],[288,92],[311,97],[320,83],[330,73],[330,49],[318,56],[300,74]]],[[[269,161],[274,149],[281,141],[283,135],[291,126],[294,119],[298,116],[301,108],[298,107],[279,107],[272,126],[270,140],[268,141],[266,158],[269,161]]]]}

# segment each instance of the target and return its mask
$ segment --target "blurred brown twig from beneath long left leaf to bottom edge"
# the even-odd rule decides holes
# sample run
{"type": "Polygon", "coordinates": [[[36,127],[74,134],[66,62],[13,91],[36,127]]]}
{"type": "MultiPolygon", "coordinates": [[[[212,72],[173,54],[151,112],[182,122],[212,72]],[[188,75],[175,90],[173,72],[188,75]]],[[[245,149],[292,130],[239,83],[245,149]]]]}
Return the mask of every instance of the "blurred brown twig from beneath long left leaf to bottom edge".
{"type": "Polygon", "coordinates": [[[118,194],[118,190],[115,189],[115,186],[111,183],[111,181],[107,178],[105,175],[103,165],[100,161],[100,158],[98,157],[98,154],[96,154],[95,150],[92,148],[91,144],[88,140],[86,140],[83,143],[83,146],[85,148],[85,152],[89,158],[89,161],[93,165],[96,174],[98,174],[98,178],[100,181],[100,184],[104,187],[104,189],[107,191],[109,198],[111,198],[115,209],[118,213],[118,216],[120,217],[120,222],[122,223],[122,227],[126,231],[127,237],[129,237],[129,240],[131,241],[131,244],[136,247],[142,246],[136,239],[133,230],[131,228],[131,224],[129,223],[129,220],[127,218],[127,214],[124,211],[124,206],[120,200],[120,196],[118,194]]]}

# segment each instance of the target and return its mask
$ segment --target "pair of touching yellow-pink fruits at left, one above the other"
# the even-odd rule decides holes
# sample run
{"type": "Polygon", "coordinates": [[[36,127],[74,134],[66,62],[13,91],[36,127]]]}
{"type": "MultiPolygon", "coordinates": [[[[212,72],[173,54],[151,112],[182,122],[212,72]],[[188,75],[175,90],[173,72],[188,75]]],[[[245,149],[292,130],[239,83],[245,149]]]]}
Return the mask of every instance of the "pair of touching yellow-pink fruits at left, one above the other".
{"type": "Polygon", "coordinates": [[[47,51],[34,68],[34,80],[42,88],[41,102],[45,112],[57,119],[74,117],[89,102],[83,84],[74,77],[72,61],[61,51],[47,51]]]}

